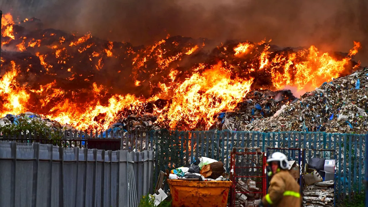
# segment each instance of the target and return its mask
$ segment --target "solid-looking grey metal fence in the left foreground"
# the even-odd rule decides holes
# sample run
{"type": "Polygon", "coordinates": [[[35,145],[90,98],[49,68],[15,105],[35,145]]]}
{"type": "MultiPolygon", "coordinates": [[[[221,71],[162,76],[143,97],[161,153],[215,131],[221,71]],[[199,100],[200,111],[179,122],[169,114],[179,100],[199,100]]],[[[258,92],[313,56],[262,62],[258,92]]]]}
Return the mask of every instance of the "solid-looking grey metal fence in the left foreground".
{"type": "Polygon", "coordinates": [[[0,206],[136,207],[153,192],[152,168],[152,151],[1,141],[0,206]]]}

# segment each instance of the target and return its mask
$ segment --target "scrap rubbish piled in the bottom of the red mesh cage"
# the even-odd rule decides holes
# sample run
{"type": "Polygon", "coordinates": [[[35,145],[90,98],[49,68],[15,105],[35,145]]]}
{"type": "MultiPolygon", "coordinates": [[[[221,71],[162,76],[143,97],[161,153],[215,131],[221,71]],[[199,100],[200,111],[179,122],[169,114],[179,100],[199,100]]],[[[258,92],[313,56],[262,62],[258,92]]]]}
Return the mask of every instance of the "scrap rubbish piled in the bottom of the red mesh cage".
{"type": "Polygon", "coordinates": [[[255,207],[261,202],[262,195],[259,193],[260,188],[256,187],[256,182],[254,180],[247,179],[246,183],[243,182],[243,180],[238,180],[235,187],[238,192],[242,192],[235,194],[235,206],[255,207]]]}

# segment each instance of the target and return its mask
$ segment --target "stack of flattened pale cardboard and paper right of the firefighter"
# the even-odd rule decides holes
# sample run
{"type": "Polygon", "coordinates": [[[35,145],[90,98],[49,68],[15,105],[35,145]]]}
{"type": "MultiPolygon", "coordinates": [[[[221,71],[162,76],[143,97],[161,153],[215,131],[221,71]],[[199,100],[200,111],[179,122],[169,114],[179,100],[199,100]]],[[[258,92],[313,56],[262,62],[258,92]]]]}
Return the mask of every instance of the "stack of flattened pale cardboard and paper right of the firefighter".
{"type": "Polygon", "coordinates": [[[305,186],[303,189],[303,206],[333,207],[333,199],[334,199],[333,185],[334,185],[333,180],[328,180],[323,182],[317,182],[310,186],[305,186]]]}

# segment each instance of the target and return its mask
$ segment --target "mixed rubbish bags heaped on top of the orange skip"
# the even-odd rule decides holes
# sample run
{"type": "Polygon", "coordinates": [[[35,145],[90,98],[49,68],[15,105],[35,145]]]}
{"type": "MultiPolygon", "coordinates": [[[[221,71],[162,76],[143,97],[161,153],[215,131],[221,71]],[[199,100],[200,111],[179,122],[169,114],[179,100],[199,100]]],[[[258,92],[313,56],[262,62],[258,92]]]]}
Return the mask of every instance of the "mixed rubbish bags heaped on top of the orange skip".
{"type": "Polygon", "coordinates": [[[190,179],[198,181],[229,180],[223,163],[207,157],[199,157],[189,167],[180,167],[171,170],[169,179],[190,179]]]}

